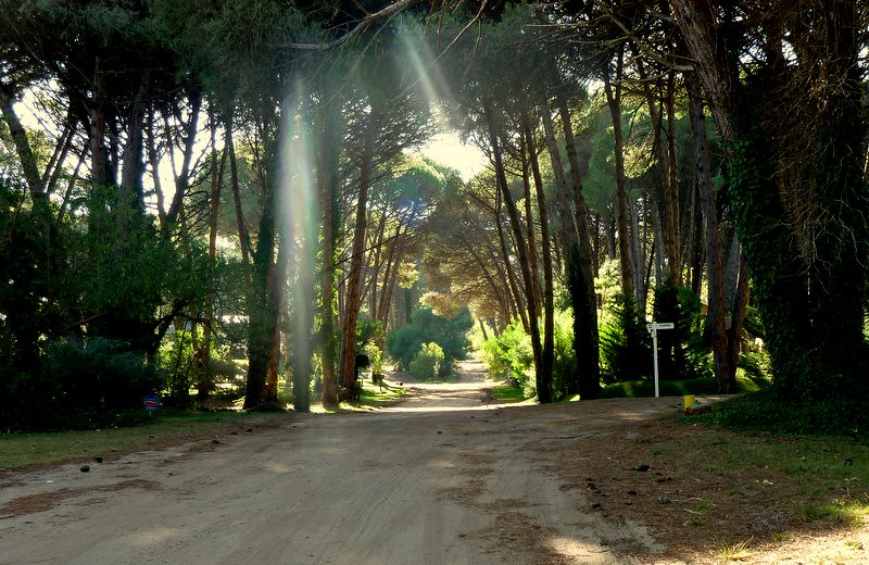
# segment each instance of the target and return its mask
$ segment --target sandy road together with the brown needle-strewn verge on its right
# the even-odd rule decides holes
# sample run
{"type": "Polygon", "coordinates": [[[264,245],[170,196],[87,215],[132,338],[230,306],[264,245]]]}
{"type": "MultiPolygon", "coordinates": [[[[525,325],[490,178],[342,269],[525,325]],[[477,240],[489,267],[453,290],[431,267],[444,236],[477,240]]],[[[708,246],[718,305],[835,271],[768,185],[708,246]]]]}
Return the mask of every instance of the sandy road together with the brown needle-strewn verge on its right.
{"type": "Polygon", "coordinates": [[[662,420],[679,399],[502,406],[463,368],[374,414],[8,475],[0,564],[720,563],[710,532],[753,562],[866,557],[866,527],[793,528],[786,477],[668,452],[723,437],[662,420]]]}

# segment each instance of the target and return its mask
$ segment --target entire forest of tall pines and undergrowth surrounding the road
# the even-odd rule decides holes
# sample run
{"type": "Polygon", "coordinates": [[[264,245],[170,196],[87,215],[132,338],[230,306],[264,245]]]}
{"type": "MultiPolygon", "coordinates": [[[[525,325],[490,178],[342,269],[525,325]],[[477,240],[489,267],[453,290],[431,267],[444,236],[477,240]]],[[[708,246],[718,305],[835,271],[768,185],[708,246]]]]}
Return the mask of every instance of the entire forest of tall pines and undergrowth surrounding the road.
{"type": "MultiPolygon", "coordinates": [[[[552,402],[866,400],[867,5],[0,2],[0,425],[327,406],[385,356],[552,402]],[[462,178],[420,152],[479,148],[462,178]]],[[[75,425],[75,423],[73,423],[75,425]]]]}

